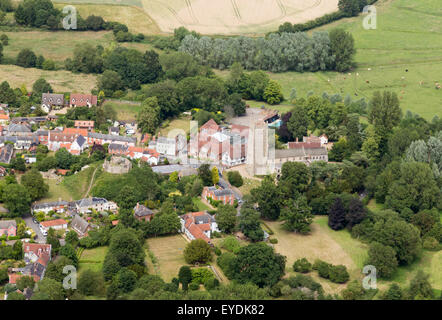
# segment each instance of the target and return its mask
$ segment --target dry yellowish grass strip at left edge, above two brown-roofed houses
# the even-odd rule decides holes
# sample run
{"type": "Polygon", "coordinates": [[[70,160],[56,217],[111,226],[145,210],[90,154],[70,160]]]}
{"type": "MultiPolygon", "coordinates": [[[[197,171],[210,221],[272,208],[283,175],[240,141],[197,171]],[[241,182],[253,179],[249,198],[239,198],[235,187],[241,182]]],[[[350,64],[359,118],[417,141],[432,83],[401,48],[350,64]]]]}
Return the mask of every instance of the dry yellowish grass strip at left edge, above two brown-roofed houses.
{"type": "Polygon", "coordinates": [[[91,92],[96,85],[96,76],[91,74],[74,74],[66,70],[46,71],[35,68],[22,68],[14,65],[0,65],[0,78],[8,81],[12,88],[23,84],[28,91],[39,78],[46,79],[55,92],[91,92]]]}

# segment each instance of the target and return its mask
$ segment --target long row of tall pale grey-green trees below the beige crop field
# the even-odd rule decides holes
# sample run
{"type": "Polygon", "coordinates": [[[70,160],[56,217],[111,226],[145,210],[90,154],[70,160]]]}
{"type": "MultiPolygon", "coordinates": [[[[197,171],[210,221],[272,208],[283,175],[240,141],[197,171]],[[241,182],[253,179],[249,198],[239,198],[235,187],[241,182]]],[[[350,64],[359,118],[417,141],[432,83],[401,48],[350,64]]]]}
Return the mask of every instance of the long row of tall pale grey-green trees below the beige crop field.
{"type": "Polygon", "coordinates": [[[351,34],[336,29],[330,32],[270,34],[265,38],[210,38],[187,35],[179,51],[187,52],[200,63],[226,69],[239,62],[248,70],[345,71],[352,66],[355,53],[351,34]]]}

